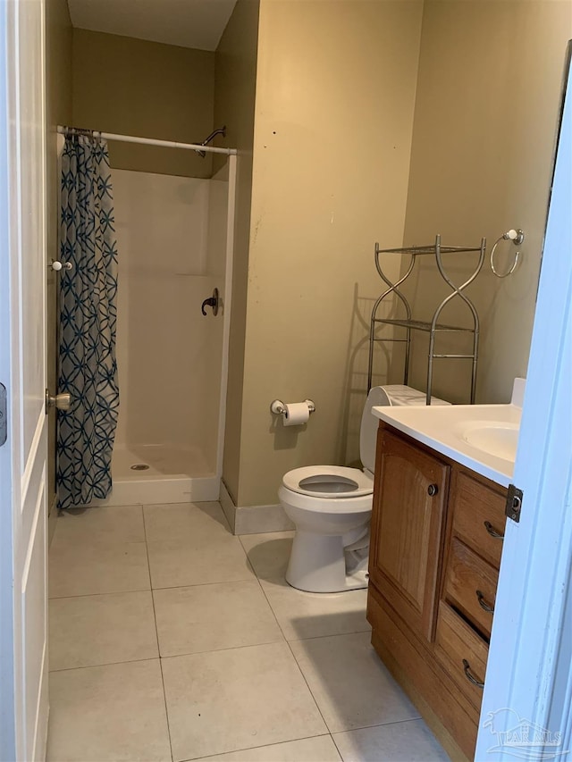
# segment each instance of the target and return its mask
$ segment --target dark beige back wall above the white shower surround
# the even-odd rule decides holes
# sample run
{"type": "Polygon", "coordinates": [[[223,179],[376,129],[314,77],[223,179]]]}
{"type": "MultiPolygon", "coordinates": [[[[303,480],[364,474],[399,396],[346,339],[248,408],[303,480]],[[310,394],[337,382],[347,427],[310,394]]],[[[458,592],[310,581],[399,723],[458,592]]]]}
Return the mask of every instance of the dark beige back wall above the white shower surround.
{"type": "MultiPolygon", "coordinates": [[[[214,53],[73,30],[73,122],[122,135],[201,142],[213,131],[214,53]]],[[[210,177],[193,151],[110,143],[114,169],[210,177]]]]}

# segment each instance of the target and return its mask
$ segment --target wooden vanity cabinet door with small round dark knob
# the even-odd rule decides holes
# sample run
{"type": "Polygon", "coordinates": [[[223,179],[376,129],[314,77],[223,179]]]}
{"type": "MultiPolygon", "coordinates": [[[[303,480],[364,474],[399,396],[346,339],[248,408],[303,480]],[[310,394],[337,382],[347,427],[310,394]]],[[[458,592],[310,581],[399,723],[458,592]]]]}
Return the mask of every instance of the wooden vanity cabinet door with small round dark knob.
{"type": "Polygon", "coordinates": [[[380,428],[371,582],[417,634],[433,641],[450,467],[380,428]],[[432,494],[433,493],[433,494],[432,494]]]}

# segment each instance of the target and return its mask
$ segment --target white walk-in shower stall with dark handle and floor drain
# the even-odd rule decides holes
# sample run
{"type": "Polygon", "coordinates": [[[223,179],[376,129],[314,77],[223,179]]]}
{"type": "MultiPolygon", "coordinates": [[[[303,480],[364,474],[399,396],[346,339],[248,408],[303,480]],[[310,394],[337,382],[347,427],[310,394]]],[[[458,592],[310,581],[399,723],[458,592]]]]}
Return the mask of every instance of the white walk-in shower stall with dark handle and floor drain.
{"type": "Polygon", "coordinates": [[[99,504],[219,498],[236,179],[224,153],[210,180],[112,167],[120,408],[99,504]]]}

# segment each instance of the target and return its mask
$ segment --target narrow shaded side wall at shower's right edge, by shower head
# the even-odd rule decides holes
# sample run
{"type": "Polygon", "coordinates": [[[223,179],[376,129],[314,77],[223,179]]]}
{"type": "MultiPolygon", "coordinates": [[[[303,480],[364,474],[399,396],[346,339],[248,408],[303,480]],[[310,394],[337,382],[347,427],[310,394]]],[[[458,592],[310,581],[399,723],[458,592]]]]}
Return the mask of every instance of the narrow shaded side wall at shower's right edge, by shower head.
{"type": "MultiPolygon", "coordinates": [[[[258,0],[238,0],[216,51],[214,122],[226,124],[227,146],[238,148],[234,273],[232,278],[229,392],[223,479],[236,499],[247,311],[248,240],[252,192],[252,146],[257,77],[258,0]]],[[[223,160],[215,161],[215,166],[223,160]]]]}

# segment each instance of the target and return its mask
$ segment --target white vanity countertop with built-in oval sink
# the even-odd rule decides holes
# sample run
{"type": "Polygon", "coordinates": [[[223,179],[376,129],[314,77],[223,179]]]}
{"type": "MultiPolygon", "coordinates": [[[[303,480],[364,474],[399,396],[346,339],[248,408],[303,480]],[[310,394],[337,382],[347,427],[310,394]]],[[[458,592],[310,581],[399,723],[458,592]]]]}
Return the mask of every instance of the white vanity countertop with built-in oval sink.
{"type": "Polygon", "coordinates": [[[383,406],[372,413],[414,440],[508,487],[522,410],[516,405],[383,406]]]}

